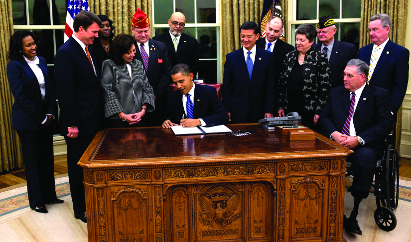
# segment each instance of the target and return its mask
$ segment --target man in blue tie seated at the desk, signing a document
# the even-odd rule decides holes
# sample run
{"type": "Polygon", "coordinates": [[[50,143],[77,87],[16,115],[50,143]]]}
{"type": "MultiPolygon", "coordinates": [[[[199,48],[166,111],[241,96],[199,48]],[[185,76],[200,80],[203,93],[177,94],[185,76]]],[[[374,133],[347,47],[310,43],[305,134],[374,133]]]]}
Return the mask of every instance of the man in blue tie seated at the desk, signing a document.
{"type": "Polygon", "coordinates": [[[227,111],[217,98],[217,90],[195,84],[193,77],[186,64],[177,64],[171,70],[171,78],[178,90],[167,96],[163,128],[179,124],[210,127],[228,122],[227,111]]]}

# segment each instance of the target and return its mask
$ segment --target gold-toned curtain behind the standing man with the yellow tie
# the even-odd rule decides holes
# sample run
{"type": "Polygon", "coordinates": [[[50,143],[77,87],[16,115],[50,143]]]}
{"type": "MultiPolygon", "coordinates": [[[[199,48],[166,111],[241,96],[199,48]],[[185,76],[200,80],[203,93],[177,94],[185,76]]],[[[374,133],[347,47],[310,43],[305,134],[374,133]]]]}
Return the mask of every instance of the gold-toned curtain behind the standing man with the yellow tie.
{"type": "MultiPolygon", "coordinates": [[[[408,0],[362,0],[360,20],[360,48],[370,44],[371,39],[367,33],[370,17],[377,13],[387,13],[391,17],[391,41],[404,46],[406,43],[408,0]]],[[[396,143],[400,150],[401,127],[403,121],[403,106],[397,114],[396,143]]]]}

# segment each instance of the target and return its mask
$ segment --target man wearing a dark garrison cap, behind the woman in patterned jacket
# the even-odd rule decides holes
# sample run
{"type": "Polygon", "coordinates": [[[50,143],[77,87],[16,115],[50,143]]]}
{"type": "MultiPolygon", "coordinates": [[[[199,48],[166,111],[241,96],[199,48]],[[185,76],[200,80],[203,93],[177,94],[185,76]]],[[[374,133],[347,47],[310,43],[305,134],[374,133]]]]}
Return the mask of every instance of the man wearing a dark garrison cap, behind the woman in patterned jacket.
{"type": "Polygon", "coordinates": [[[342,86],[344,81],[341,73],[344,71],[347,62],[355,58],[358,49],[353,44],[334,38],[337,27],[331,16],[322,16],[318,20],[319,43],[312,45],[312,47],[327,56],[331,69],[331,88],[342,86]]]}

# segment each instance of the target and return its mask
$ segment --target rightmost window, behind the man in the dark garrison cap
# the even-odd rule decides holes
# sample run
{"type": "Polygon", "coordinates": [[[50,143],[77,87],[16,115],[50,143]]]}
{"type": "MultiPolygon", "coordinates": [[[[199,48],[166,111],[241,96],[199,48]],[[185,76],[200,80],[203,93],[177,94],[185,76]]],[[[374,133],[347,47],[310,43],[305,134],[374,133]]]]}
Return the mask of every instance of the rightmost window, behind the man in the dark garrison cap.
{"type": "MultiPolygon", "coordinates": [[[[291,3],[291,1],[289,1],[291,3]]],[[[288,21],[288,42],[295,46],[294,30],[300,24],[312,23],[317,27],[318,18],[331,15],[337,27],[335,38],[360,46],[361,0],[293,0],[292,20],[288,21]]],[[[318,42],[318,38],[315,40],[318,42]]]]}

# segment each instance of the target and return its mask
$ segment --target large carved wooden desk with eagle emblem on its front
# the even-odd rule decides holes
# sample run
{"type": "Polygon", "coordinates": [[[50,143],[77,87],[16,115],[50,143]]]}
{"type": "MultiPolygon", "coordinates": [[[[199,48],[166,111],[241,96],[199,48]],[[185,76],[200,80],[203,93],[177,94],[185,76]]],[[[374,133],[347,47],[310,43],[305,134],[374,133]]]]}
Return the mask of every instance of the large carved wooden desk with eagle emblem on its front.
{"type": "Polygon", "coordinates": [[[170,129],[100,131],[84,168],[90,242],[340,242],[346,157],[316,134],[175,136],[170,129]]]}

